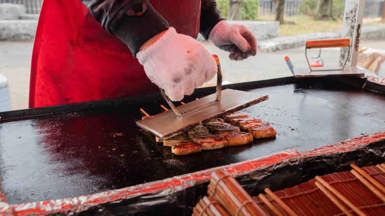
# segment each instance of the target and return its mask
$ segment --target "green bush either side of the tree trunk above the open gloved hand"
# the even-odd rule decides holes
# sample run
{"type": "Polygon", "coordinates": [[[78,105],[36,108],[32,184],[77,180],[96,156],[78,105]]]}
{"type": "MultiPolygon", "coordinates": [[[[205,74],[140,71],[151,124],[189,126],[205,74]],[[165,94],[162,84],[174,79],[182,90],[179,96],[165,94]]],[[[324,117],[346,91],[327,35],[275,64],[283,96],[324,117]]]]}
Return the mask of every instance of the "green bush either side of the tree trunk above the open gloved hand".
{"type": "MultiPolygon", "coordinates": [[[[222,17],[227,19],[230,0],[216,0],[217,9],[222,17]]],[[[257,20],[259,0],[244,0],[242,9],[242,20],[257,20]]]]}

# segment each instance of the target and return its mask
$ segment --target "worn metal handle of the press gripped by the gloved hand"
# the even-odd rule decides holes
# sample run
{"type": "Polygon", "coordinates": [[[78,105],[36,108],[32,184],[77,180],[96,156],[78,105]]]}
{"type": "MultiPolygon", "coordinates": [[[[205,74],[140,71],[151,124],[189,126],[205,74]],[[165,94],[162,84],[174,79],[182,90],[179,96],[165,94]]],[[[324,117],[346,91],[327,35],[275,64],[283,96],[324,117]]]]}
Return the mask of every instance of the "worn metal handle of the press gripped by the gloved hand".
{"type": "Polygon", "coordinates": [[[170,98],[166,95],[163,89],[160,89],[160,94],[163,96],[164,100],[166,100],[167,104],[171,107],[171,109],[175,112],[176,115],[182,117],[185,115],[188,115],[192,112],[196,112],[198,110],[201,110],[203,108],[207,108],[210,106],[213,106],[215,104],[218,104],[221,101],[221,94],[222,94],[222,70],[221,65],[219,64],[219,58],[217,55],[213,55],[215,62],[217,63],[218,72],[217,72],[217,96],[216,99],[210,103],[208,103],[206,106],[201,106],[197,108],[193,108],[190,110],[187,110],[185,112],[179,112],[177,108],[174,106],[174,104],[171,102],[170,98]]]}

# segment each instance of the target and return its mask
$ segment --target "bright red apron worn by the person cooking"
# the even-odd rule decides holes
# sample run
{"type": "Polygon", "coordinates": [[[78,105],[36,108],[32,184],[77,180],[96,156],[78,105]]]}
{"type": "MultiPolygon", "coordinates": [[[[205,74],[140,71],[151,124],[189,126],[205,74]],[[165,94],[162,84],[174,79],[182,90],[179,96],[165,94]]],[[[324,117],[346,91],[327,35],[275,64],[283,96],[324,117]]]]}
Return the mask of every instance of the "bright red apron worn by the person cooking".
{"type": "MultiPolygon", "coordinates": [[[[199,33],[200,0],[150,0],[178,33],[199,33]]],[[[44,0],[31,64],[29,107],[158,92],[138,60],[79,0],[44,0]]]]}

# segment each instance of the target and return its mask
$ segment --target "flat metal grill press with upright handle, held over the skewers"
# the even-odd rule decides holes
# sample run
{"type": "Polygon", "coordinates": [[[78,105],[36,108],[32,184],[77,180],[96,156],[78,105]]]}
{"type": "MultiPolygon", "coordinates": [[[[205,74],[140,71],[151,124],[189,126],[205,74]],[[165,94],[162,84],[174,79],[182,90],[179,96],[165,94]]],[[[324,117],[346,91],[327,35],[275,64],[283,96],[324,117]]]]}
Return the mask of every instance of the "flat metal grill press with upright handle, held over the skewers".
{"type": "Polygon", "coordinates": [[[261,96],[251,92],[233,89],[222,91],[222,70],[219,58],[216,55],[213,57],[218,67],[215,94],[175,107],[164,91],[160,89],[160,93],[172,110],[139,120],[136,124],[156,137],[169,139],[196,125],[203,124],[211,118],[221,117],[269,99],[268,95],[261,96]]]}

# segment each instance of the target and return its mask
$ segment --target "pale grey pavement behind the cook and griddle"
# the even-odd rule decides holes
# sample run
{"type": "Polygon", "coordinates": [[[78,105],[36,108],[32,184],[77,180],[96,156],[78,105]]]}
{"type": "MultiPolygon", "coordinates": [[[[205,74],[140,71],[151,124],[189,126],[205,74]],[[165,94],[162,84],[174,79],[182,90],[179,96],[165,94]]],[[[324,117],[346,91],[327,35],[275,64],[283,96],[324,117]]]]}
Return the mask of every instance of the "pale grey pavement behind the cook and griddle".
{"type": "MultiPolygon", "coordinates": [[[[296,68],[308,68],[305,46],[275,52],[258,51],[257,56],[244,61],[229,60],[228,53],[218,49],[209,42],[202,42],[210,53],[219,56],[224,81],[230,83],[256,81],[291,76],[284,60],[289,56],[296,68]]],[[[0,74],[7,77],[10,88],[12,109],[28,108],[29,78],[33,41],[0,41],[0,74]]],[[[364,40],[360,47],[385,50],[385,40],[364,40]]],[[[309,53],[308,58],[318,54],[309,53]]],[[[334,66],[339,61],[339,49],[328,48],[321,52],[325,66],[334,66]]],[[[215,82],[215,81],[214,81],[215,82]]]]}

